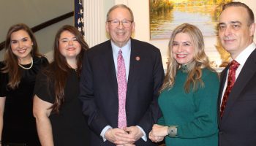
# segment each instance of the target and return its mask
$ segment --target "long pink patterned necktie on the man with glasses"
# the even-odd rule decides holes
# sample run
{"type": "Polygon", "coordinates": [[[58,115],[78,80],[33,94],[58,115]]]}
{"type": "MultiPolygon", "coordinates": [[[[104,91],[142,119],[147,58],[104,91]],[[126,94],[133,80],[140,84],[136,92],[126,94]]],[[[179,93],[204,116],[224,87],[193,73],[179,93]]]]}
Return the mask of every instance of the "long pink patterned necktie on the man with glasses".
{"type": "Polygon", "coordinates": [[[117,58],[117,84],[118,84],[118,128],[127,126],[127,115],[125,112],[125,102],[127,96],[127,79],[124,65],[124,58],[121,50],[117,58]]]}

